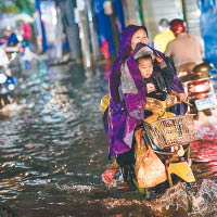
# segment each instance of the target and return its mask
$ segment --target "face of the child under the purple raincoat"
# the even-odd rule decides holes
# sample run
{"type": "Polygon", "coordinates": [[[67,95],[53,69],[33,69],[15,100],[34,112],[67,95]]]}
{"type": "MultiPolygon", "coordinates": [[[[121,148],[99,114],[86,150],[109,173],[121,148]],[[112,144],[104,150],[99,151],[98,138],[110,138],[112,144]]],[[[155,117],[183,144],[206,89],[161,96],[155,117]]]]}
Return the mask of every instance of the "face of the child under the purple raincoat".
{"type": "Polygon", "coordinates": [[[151,59],[140,59],[138,66],[142,78],[151,77],[153,73],[153,63],[151,59]]]}

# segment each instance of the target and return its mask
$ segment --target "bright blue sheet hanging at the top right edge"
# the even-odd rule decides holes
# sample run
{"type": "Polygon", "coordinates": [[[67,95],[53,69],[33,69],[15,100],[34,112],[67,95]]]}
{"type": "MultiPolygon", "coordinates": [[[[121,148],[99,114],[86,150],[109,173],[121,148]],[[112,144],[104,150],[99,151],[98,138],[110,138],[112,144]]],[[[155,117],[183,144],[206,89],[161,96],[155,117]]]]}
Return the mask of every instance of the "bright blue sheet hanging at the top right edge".
{"type": "Polygon", "coordinates": [[[205,59],[217,67],[217,2],[215,0],[200,0],[200,9],[205,59]]]}

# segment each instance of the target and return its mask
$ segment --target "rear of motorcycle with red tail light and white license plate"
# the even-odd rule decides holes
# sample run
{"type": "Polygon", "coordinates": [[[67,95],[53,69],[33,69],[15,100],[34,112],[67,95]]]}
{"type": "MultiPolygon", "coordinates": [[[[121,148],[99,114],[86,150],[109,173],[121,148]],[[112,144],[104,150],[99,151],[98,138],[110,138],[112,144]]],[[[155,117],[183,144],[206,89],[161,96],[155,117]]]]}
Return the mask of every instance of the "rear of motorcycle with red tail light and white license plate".
{"type": "Polygon", "coordinates": [[[204,112],[205,115],[213,115],[217,108],[217,100],[209,75],[213,67],[208,63],[195,65],[191,72],[179,76],[188,93],[189,102],[193,104],[190,113],[197,114],[204,112]]]}

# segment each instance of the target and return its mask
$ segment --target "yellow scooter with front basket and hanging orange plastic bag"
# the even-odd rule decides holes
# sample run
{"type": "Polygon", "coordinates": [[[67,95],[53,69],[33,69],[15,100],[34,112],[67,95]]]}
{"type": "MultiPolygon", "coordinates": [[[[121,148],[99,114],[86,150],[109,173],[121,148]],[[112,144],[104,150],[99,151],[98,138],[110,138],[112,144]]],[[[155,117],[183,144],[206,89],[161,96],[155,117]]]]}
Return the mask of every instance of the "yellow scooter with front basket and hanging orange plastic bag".
{"type": "Polygon", "coordinates": [[[186,182],[195,181],[190,168],[190,143],[196,140],[193,115],[167,112],[177,103],[176,95],[146,98],[145,111],[152,115],[135,131],[133,182],[141,193],[167,180],[173,186],[174,175],[186,182]]]}

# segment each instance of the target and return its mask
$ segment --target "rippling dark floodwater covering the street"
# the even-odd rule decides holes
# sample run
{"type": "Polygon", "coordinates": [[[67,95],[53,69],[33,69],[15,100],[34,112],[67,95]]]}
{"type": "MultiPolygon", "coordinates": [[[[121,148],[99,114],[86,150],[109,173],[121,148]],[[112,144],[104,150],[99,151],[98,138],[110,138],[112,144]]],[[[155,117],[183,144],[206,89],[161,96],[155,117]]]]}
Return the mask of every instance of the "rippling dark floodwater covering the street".
{"type": "Polygon", "coordinates": [[[0,216],[217,216],[213,119],[197,126],[201,140],[192,144],[193,187],[178,183],[148,202],[122,189],[119,175],[103,184],[108,161],[99,103],[111,67],[41,61],[18,73],[21,108],[0,122],[0,216]]]}

